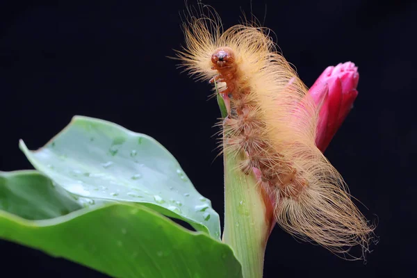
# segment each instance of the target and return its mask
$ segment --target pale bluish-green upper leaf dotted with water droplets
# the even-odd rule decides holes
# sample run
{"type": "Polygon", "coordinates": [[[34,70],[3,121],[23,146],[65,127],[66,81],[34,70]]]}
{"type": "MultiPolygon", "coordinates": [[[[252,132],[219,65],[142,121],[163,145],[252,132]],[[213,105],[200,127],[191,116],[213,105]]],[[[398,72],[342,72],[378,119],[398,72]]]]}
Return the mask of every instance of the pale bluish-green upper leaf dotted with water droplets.
{"type": "Polygon", "coordinates": [[[33,166],[70,193],[137,202],[220,239],[219,215],[195,190],[178,161],[144,134],[76,116],[47,145],[20,148],[33,166]]]}

